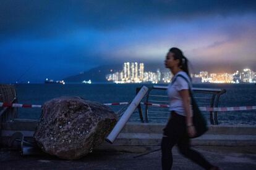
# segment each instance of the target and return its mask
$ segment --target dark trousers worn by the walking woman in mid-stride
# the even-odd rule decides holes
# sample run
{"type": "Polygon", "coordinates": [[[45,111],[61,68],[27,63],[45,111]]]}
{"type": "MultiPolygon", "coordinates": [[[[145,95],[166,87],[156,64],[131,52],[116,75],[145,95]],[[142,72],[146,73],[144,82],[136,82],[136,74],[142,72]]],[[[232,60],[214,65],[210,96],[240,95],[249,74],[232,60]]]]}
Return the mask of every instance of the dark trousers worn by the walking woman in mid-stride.
{"type": "Polygon", "coordinates": [[[161,142],[162,168],[171,169],[173,165],[173,154],[171,152],[174,145],[177,144],[179,152],[186,158],[194,161],[205,169],[210,169],[212,165],[203,158],[200,153],[190,148],[190,139],[187,134],[186,117],[178,115],[172,111],[171,119],[164,128],[164,136],[161,142]]]}

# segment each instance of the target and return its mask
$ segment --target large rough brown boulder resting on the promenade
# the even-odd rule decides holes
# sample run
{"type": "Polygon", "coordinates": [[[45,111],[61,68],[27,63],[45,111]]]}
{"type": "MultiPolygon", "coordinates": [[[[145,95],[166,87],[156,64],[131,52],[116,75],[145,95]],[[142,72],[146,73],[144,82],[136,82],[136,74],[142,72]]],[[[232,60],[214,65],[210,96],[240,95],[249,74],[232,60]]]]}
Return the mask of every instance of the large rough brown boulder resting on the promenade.
{"type": "Polygon", "coordinates": [[[60,97],[43,105],[34,137],[44,152],[74,160],[100,145],[116,121],[114,111],[103,104],[60,97]]]}

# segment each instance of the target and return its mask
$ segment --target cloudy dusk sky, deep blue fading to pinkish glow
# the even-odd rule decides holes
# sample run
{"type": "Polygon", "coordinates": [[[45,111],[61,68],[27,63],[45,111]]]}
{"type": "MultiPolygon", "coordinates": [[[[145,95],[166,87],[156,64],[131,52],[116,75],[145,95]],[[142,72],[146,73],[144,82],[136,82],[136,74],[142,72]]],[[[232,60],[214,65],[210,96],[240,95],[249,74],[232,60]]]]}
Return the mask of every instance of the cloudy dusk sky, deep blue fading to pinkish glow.
{"type": "Polygon", "coordinates": [[[195,70],[256,71],[255,28],[256,1],[1,0],[0,83],[163,63],[170,47],[195,70]]]}

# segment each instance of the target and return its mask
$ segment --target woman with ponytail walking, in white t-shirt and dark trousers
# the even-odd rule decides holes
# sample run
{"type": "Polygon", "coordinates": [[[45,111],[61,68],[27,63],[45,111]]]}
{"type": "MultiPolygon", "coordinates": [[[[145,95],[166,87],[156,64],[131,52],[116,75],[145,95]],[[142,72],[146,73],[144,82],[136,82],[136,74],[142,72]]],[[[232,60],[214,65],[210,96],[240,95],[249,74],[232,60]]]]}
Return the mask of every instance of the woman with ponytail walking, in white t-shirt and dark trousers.
{"type": "Polygon", "coordinates": [[[190,82],[187,58],[184,57],[180,49],[173,47],[166,55],[164,64],[174,76],[172,83],[168,86],[171,119],[163,130],[161,142],[162,168],[164,170],[171,169],[173,165],[171,150],[177,144],[182,155],[202,166],[202,168],[220,169],[210,164],[200,153],[190,148],[189,137],[195,136],[196,131],[192,121],[193,113],[190,105],[189,88],[192,83],[190,82]],[[183,78],[177,75],[181,75],[183,78]]]}

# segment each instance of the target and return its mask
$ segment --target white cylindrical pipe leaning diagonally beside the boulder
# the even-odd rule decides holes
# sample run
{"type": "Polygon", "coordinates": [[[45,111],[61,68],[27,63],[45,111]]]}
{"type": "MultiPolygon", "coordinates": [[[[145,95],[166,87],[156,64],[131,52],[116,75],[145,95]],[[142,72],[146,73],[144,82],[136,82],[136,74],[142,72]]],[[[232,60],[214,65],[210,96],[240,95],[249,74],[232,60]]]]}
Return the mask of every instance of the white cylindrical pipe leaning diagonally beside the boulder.
{"type": "Polygon", "coordinates": [[[143,99],[144,95],[147,93],[148,87],[143,86],[139,93],[135,96],[134,100],[130,103],[129,107],[124,111],[124,115],[121,116],[119,121],[117,121],[116,125],[114,126],[113,130],[110,132],[106,141],[113,144],[114,140],[121,132],[124,125],[127,123],[128,119],[134,113],[134,110],[138,107],[140,101],[143,99]]]}

